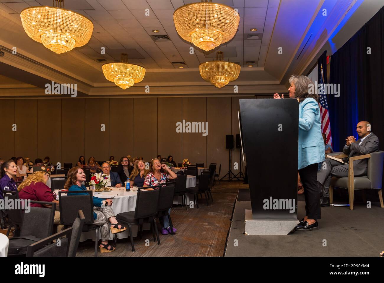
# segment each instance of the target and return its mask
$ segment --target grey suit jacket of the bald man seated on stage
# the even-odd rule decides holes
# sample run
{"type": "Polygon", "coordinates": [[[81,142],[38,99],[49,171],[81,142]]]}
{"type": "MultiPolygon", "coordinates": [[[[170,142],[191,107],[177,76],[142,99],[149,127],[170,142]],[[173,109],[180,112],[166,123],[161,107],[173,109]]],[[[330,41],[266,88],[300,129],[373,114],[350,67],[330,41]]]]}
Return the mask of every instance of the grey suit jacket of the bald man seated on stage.
{"type": "MultiPolygon", "coordinates": [[[[350,157],[364,155],[379,150],[379,138],[377,138],[377,136],[372,132],[368,137],[364,138],[361,145],[359,145],[360,141],[361,138],[359,138],[356,142],[351,143],[349,148],[345,148],[344,146],[343,153],[348,154],[348,157],[343,158],[344,162],[349,162],[350,157]]],[[[367,158],[353,161],[353,171],[355,175],[366,172],[367,166],[367,158]]]]}

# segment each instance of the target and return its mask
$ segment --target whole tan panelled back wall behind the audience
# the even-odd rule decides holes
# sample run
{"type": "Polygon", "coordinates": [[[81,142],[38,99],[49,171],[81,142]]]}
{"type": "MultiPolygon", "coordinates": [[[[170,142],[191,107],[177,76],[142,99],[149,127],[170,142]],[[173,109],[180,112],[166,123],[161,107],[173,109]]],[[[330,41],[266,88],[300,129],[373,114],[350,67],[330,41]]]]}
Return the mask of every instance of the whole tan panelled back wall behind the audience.
{"type": "MultiPolygon", "coordinates": [[[[128,154],[143,156],[146,161],[157,154],[172,155],[176,162],[189,158],[192,164],[204,162],[206,167],[217,163],[217,173],[222,164],[224,176],[228,172],[225,135],[232,134],[235,140],[239,133],[239,98],[243,97],[0,100],[0,157],[28,156],[34,161],[48,155],[52,163],[75,165],[80,155],[86,160],[94,156],[97,161],[108,160],[110,155],[115,160],[128,154]],[[176,123],[183,119],[208,122],[208,135],[177,133],[176,123]]],[[[236,148],[231,166],[237,174],[234,162],[240,162],[236,148]]]]}

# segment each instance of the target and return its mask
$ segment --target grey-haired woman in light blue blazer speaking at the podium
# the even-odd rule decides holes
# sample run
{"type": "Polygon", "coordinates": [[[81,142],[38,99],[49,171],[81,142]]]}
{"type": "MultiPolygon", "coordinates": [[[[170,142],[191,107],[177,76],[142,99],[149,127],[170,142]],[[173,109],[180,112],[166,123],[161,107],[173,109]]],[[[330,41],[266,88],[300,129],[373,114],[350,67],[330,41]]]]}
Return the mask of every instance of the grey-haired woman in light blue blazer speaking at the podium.
{"type": "MultiPolygon", "coordinates": [[[[321,206],[316,177],[318,163],[325,159],[318,96],[316,93],[308,93],[309,87],[313,85],[308,77],[292,75],[289,82],[289,97],[296,98],[299,102],[298,171],[305,197],[305,217],[295,229],[318,230],[317,220],[321,218],[321,206]]],[[[275,93],[273,98],[280,98],[280,95],[275,93]]],[[[283,95],[281,98],[284,98],[283,95]]]]}

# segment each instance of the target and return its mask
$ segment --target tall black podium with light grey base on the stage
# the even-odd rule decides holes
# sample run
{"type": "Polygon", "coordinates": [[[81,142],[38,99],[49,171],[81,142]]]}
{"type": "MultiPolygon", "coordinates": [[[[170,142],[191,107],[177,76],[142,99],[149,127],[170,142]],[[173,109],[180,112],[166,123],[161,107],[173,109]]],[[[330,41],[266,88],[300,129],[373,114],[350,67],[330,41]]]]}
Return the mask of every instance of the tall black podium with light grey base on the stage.
{"type": "Polygon", "coordinates": [[[298,102],[240,99],[252,211],[248,235],[287,235],[297,224],[298,102]]]}

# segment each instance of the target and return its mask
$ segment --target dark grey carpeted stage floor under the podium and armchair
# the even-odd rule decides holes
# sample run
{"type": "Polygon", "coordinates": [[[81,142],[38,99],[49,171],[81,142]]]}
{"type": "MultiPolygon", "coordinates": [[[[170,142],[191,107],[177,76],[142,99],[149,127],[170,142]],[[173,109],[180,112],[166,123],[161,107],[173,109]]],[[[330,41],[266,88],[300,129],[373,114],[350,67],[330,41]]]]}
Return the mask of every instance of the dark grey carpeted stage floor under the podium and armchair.
{"type": "MultiPolygon", "coordinates": [[[[251,209],[245,196],[245,191],[238,194],[224,256],[379,256],[384,250],[384,208],[379,202],[372,202],[371,208],[355,203],[353,210],[322,207],[319,230],[245,235],[245,210],[251,209]]],[[[299,195],[298,219],[304,214],[304,196],[299,195]]]]}

